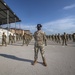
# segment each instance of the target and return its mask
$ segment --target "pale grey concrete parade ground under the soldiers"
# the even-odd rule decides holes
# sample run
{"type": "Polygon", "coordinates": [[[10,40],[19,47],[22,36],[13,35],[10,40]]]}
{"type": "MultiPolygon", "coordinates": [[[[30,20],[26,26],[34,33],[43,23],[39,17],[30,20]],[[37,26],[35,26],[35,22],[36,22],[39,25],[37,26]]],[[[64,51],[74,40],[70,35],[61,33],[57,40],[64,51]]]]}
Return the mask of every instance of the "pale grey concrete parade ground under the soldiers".
{"type": "Polygon", "coordinates": [[[41,54],[34,66],[34,41],[22,46],[22,41],[0,46],[0,75],[75,75],[75,43],[62,46],[48,41],[45,46],[47,67],[43,66],[41,54]]]}

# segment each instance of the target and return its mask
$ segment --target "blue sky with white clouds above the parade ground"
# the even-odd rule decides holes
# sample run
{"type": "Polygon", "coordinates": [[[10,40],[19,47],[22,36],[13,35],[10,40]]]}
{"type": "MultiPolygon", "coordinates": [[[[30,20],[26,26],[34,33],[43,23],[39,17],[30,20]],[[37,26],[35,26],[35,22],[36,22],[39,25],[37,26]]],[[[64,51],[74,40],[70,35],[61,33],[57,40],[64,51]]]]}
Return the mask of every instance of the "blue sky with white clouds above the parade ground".
{"type": "Polygon", "coordinates": [[[46,34],[75,32],[75,0],[4,1],[22,20],[22,29],[34,33],[36,25],[41,23],[46,34]]]}

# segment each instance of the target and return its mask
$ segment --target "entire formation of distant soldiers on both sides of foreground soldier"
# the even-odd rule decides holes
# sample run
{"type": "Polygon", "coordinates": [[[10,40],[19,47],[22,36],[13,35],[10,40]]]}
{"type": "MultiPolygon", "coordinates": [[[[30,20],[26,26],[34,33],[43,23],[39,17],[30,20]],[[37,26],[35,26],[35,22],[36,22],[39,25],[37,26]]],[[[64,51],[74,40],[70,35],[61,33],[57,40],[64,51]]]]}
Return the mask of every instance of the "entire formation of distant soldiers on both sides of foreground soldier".
{"type": "MultiPolygon", "coordinates": [[[[33,38],[33,35],[24,33],[23,35],[22,34],[16,34],[16,36],[15,36],[15,34],[11,35],[11,33],[10,33],[8,37],[9,37],[9,40],[7,42],[7,36],[3,32],[3,34],[2,34],[2,46],[3,45],[7,46],[9,44],[13,44],[13,43],[20,41],[20,40],[23,41],[22,45],[28,46],[30,41],[33,38]]],[[[51,40],[51,41],[54,41],[54,42],[59,43],[61,45],[67,46],[68,41],[75,42],[75,33],[67,34],[66,32],[64,32],[63,34],[58,33],[58,34],[46,35],[46,38],[47,38],[47,40],[51,40]]],[[[47,45],[46,40],[45,40],[45,45],[47,45]]]]}

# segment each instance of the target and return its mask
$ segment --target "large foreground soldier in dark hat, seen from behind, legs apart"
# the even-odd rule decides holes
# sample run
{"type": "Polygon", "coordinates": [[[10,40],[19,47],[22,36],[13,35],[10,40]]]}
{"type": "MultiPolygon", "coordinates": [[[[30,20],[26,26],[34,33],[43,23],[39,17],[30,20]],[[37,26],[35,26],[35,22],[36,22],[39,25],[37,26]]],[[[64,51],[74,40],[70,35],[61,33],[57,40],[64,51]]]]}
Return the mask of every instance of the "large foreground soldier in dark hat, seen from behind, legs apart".
{"type": "Polygon", "coordinates": [[[33,65],[35,65],[37,63],[38,51],[40,50],[42,60],[43,60],[43,65],[47,66],[46,61],[45,61],[45,56],[44,56],[44,52],[45,52],[44,51],[44,42],[46,40],[46,35],[41,30],[41,27],[42,27],[41,24],[37,24],[37,31],[34,33],[35,44],[34,44],[34,63],[33,63],[33,65]]]}

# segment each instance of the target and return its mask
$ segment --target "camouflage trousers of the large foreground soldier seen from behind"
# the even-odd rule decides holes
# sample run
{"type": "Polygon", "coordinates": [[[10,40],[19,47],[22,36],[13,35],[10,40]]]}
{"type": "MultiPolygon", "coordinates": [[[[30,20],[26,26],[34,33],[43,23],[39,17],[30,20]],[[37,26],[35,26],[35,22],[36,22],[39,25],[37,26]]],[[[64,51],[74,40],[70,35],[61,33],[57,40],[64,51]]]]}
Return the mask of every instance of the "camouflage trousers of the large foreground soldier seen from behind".
{"type": "Polygon", "coordinates": [[[42,60],[44,60],[44,47],[43,45],[41,46],[35,46],[34,47],[34,59],[37,60],[38,59],[38,52],[40,50],[41,56],[42,56],[42,60]]]}

